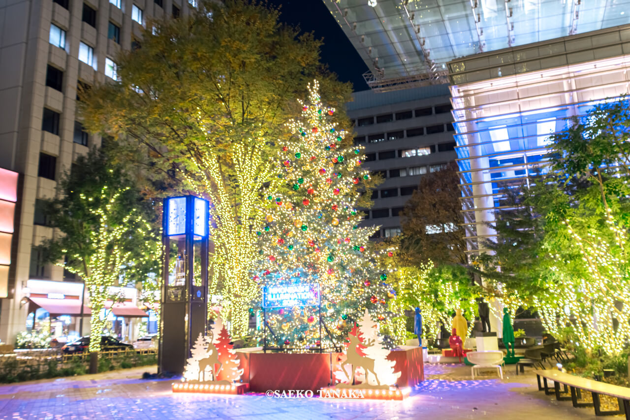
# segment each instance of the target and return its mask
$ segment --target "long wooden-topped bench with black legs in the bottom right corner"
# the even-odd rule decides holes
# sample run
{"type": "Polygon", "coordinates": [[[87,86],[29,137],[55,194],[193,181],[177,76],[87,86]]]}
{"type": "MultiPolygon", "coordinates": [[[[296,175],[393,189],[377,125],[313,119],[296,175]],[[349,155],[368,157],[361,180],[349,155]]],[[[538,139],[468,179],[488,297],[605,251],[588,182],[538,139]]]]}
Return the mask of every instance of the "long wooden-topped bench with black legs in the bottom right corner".
{"type": "Polygon", "coordinates": [[[570,375],[559,370],[536,370],[534,373],[536,373],[536,379],[538,381],[538,390],[544,391],[546,395],[555,393],[556,400],[558,401],[571,400],[571,402],[573,402],[573,407],[593,406],[595,408],[595,416],[626,414],[626,420],[630,420],[630,388],[581,378],[580,376],[570,375]],[[544,384],[542,386],[541,378],[544,384]],[[553,391],[549,390],[547,380],[553,381],[553,391]],[[563,385],[563,391],[560,390],[560,385],[563,385]],[[571,388],[571,391],[569,391],[567,387],[571,388]],[[581,399],[581,391],[590,392],[593,395],[593,402],[578,402],[578,399],[581,399]],[[571,396],[562,395],[569,393],[571,396]],[[617,404],[619,404],[619,410],[602,411],[600,408],[600,395],[610,395],[610,397],[615,397],[617,399],[617,404]]]}

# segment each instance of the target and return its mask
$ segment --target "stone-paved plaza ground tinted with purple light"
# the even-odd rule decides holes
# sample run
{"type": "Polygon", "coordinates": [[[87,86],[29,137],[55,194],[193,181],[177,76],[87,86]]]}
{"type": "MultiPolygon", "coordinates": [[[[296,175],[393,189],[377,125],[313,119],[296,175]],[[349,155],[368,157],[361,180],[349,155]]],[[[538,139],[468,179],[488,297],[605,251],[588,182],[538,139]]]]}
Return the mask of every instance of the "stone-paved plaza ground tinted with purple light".
{"type": "Polygon", "coordinates": [[[404,401],[173,395],[173,380],[139,379],[155,367],[39,380],[0,385],[0,419],[595,419],[592,408],[537,391],[536,376],[515,376],[513,366],[503,381],[490,372],[473,381],[462,365],[425,366],[427,380],[404,401]]]}

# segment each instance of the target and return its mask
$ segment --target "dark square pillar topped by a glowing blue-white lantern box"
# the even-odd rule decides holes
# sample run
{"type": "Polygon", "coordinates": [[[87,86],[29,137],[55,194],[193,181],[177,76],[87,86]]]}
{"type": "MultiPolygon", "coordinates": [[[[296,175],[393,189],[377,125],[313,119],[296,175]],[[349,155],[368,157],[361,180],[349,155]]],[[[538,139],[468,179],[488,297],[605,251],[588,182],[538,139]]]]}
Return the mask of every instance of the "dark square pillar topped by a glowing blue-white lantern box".
{"type": "Polygon", "coordinates": [[[181,374],[195,339],[207,327],[209,202],[194,195],[171,197],[164,199],[163,209],[158,366],[160,373],[181,374]]]}

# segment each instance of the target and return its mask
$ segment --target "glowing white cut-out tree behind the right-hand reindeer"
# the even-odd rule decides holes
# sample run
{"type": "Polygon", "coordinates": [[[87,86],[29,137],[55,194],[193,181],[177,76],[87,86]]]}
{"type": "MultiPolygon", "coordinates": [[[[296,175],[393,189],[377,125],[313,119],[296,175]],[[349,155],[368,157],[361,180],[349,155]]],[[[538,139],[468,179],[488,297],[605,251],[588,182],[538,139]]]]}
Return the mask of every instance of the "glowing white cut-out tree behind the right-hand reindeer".
{"type": "MultiPolygon", "coordinates": [[[[382,336],[379,335],[377,322],[370,318],[370,314],[365,311],[363,318],[358,322],[358,329],[364,339],[370,345],[365,347],[363,353],[370,359],[374,359],[374,373],[379,378],[381,385],[394,385],[401,373],[394,373],[395,361],[387,360],[389,350],[383,346],[382,336]]],[[[374,376],[368,376],[367,382],[370,385],[377,385],[374,376]]]]}

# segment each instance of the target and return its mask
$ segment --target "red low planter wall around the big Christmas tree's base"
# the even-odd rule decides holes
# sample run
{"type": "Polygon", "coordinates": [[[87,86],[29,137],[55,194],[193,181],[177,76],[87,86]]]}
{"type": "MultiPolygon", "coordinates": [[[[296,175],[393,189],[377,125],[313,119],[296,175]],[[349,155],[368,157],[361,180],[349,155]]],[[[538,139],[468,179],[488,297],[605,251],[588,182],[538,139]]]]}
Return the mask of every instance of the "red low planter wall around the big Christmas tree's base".
{"type": "MultiPolygon", "coordinates": [[[[251,392],[267,390],[312,390],[333,383],[332,368],[340,353],[261,353],[259,349],[237,351],[243,368],[243,382],[251,392]]],[[[421,347],[402,346],[392,350],[387,359],[395,361],[394,371],[401,372],[396,384],[413,387],[425,378],[421,347]]]]}

